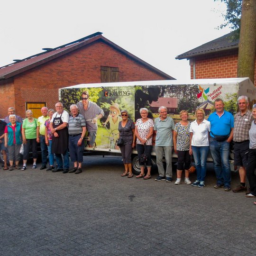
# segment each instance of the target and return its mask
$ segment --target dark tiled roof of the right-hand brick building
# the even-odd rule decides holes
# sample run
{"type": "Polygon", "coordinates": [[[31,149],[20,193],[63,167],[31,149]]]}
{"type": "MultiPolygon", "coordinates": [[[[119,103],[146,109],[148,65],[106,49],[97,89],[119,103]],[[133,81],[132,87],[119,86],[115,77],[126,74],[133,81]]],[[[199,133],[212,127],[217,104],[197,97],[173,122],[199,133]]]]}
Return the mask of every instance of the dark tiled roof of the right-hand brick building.
{"type": "Polygon", "coordinates": [[[178,59],[178,60],[182,60],[186,58],[190,59],[198,55],[205,55],[205,54],[229,50],[229,49],[238,49],[239,38],[236,38],[234,36],[235,34],[234,32],[235,31],[232,31],[231,33],[225,36],[214,39],[206,44],[203,44],[188,52],[178,55],[177,57],[175,57],[175,59],[178,59]]]}

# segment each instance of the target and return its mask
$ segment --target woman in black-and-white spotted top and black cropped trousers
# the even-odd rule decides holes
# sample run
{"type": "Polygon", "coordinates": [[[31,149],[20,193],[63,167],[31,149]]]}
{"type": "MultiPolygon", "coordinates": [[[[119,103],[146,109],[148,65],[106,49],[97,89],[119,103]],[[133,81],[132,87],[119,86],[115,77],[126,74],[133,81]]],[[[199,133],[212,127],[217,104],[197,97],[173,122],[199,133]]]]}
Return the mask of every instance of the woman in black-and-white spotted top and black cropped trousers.
{"type": "Polygon", "coordinates": [[[174,127],[174,152],[178,155],[177,163],[177,180],[174,183],[175,185],[181,184],[183,165],[185,164],[185,180],[186,184],[191,184],[189,179],[189,167],[190,167],[190,132],[189,128],[191,122],[188,120],[188,111],[181,110],[180,118],[181,121],[175,124],[174,127]]]}

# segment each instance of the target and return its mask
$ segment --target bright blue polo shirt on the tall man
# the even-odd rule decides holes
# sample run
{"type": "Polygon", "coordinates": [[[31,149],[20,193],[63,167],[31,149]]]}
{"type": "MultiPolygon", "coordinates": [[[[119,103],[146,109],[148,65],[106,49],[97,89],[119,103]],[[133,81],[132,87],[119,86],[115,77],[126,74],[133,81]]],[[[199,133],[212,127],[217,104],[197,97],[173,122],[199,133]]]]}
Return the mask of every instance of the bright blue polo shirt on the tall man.
{"type": "MultiPolygon", "coordinates": [[[[234,128],[234,117],[226,110],[224,110],[224,113],[221,117],[217,115],[216,111],[213,112],[212,114],[210,114],[208,121],[210,121],[210,130],[215,135],[229,135],[231,128],[234,128]]],[[[210,136],[214,137],[211,132],[210,136]]]]}

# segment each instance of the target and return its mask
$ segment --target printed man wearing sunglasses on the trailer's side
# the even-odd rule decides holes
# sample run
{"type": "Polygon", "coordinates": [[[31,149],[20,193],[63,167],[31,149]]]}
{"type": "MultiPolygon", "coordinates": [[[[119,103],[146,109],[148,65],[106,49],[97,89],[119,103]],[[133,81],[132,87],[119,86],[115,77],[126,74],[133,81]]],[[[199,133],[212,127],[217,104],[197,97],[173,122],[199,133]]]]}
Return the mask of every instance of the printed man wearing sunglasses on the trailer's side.
{"type": "Polygon", "coordinates": [[[97,121],[104,116],[104,112],[96,103],[89,101],[88,91],[82,93],[81,101],[76,105],[86,121],[88,137],[90,138],[87,144],[89,147],[93,147],[98,129],[97,121]]]}

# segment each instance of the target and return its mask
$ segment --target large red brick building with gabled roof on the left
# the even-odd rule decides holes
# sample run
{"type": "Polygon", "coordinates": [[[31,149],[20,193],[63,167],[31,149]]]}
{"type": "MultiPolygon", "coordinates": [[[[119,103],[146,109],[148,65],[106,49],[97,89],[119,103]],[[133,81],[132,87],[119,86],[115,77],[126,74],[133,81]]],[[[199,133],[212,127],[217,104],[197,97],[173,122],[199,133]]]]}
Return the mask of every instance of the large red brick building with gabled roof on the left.
{"type": "Polygon", "coordinates": [[[9,107],[25,118],[54,108],[58,89],[80,83],[172,80],[173,77],[114,44],[97,32],[0,67],[0,117],[9,107]]]}

